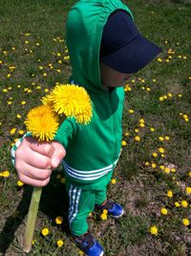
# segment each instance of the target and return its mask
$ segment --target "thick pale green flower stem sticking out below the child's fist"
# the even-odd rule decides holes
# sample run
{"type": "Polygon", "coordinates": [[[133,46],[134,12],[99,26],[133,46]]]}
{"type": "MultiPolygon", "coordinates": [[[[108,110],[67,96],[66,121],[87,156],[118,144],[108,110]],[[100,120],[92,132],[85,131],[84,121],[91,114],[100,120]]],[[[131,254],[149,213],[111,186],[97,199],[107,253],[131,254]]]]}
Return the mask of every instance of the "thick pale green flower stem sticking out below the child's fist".
{"type": "Polygon", "coordinates": [[[36,216],[38,213],[38,205],[40,202],[40,197],[42,193],[41,187],[33,187],[32,191],[32,199],[30,203],[30,209],[28,213],[28,220],[24,235],[24,251],[30,252],[32,249],[32,238],[33,238],[33,232],[35,228],[35,222],[36,222],[36,216]]]}

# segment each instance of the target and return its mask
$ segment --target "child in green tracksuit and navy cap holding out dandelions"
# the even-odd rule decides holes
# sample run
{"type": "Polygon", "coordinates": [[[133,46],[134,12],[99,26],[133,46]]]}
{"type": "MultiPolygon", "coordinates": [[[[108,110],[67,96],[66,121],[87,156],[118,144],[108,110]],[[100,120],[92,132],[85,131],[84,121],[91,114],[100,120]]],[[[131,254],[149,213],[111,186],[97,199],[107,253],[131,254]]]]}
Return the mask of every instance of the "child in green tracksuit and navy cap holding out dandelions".
{"type": "Polygon", "coordinates": [[[100,256],[103,248],[86,219],[95,207],[114,218],[123,214],[122,206],[106,196],[120,154],[123,85],[161,50],[138,34],[132,12],[119,0],[78,1],[69,12],[66,35],[71,81],[88,91],[92,122],[80,126],[73,118],[65,120],[51,144],[23,138],[12,157],[20,180],[32,186],[45,186],[64,158],[74,242],[86,255],[100,256]]]}

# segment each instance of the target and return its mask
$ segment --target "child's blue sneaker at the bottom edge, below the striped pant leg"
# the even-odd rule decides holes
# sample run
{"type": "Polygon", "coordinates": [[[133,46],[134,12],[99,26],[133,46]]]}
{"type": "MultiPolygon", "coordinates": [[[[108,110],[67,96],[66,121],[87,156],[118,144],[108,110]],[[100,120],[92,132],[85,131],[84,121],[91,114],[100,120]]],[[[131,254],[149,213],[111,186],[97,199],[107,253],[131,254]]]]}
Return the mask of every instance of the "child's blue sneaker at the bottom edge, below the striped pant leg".
{"type": "Polygon", "coordinates": [[[93,235],[89,232],[82,236],[73,236],[75,244],[87,255],[87,256],[102,256],[103,248],[96,241],[93,235]]]}

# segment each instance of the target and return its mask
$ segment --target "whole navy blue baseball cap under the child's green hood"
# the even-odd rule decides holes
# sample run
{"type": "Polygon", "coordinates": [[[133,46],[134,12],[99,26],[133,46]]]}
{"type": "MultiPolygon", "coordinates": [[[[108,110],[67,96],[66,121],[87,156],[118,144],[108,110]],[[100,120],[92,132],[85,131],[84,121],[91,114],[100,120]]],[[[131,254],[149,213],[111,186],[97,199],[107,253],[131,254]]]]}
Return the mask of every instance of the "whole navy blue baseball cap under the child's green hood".
{"type": "Polygon", "coordinates": [[[103,28],[100,61],[121,73],[132,74],[160,52],[161,48],[138,33],[127,12],[117,11],[110,15],[103,28]]]}

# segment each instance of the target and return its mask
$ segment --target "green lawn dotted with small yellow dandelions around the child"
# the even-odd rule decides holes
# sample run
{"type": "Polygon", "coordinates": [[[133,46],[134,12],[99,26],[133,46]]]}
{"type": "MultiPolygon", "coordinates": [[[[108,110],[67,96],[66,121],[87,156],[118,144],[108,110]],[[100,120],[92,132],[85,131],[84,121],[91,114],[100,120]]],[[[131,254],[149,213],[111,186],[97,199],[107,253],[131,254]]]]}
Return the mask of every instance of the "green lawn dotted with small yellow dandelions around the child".
{"type": "MultiPolygon", "coordinates": [[[[74,2],[1,1],[0,173],[7,170],[11,175],[0,177],[0,255],[25,255],[22,238],[32,188],[17,185],[11,144],[25,132],[26,114],[39,104],[45,91],[55,82],[68,81],[71,67],[65,48],[65,21],[74,2]],[[11,132],[12,128],[16,128],[15,132],[11,132]]],[[[101,221],[95,212],[89,219],[90,228],[109,256],[189,255],[191,226],[184,226],[182,219],[191,221],[191,198],[185,193],[185,188],[191,187],[191,5],[190,1],[167,0],[130,0],[128,5],[139,31],[162,46],[163,51],[127,87],[123,115],[123,140],[127,145],[122,148],[114,176],[117,183],[111,183],[108,190],[109,197],[119,201],[126,214],[117,221],[101,221]],[[159,101],[162,96],[163,101],[159,101]],[[140,118],[144,119],[143,128],[139,126],[140,118]],[[159,148],[164,149],[163,155],[159,148]],[[153,152],[158,153],[157,157],[153,152]],[[162,166],[168,169],[162,170],[162,166]],[[167,197],[169,190],[172,198],[167,197]],[[181,205],[182,200],[186,200],[187,207],[181,205]],[[161,207],[168,210],[167,215],[160,213],[161,207]],[[157,236],[150,233],[152,225],[158,227],[157,236]]],[[[60,177],[63,174],[58,168],[43,189],[29,255],[79,254],[70,237],[68,199],[60,177]],[[61,225],[55,223],[56,216],[63,217],[61,225]],[[41,235],[45,226],[50,230],[47,237],[41,235]],[[58,247],[57,240],[63,240],[64,245],[58,247]]]]}

